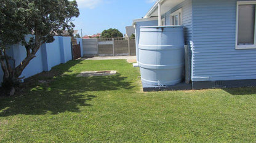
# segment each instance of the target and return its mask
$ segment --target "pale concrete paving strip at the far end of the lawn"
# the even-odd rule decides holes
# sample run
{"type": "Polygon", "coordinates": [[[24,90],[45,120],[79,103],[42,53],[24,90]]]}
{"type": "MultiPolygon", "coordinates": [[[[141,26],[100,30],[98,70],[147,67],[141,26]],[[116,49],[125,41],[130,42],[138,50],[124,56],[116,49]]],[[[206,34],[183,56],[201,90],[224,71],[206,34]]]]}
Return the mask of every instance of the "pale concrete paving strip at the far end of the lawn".
{"type": "Polygon", "coordinates": [[[117,60],[126,59],[128,63],[136,63],[136,56],[94,56],[92,58],[81,58],[81,60],[117,60]]]}

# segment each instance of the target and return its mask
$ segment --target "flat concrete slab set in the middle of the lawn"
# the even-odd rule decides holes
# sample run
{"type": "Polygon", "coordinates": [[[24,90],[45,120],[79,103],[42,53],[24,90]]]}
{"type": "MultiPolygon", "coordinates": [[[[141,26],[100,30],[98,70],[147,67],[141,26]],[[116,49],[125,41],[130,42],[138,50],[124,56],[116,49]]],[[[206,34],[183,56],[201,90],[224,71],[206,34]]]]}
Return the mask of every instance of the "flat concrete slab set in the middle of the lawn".
{"type": "Polygon", "coordinates": [[[77,77],[94,77],[94,76],[106,76],[114,75],[116,71],[84,71],[77,75],[77,77]]]}

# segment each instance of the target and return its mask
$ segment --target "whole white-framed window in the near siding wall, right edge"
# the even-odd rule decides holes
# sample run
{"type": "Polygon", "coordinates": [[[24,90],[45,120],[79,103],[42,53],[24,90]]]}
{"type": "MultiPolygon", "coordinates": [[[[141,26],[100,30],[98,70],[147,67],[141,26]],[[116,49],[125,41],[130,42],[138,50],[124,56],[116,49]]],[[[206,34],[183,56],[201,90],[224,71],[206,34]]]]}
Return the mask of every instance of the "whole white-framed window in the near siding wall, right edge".
{"type": "Polygon", "coordinates": [[[256,48],[256,1],[239,1],[236,14],[236,48],[256,48]]]}

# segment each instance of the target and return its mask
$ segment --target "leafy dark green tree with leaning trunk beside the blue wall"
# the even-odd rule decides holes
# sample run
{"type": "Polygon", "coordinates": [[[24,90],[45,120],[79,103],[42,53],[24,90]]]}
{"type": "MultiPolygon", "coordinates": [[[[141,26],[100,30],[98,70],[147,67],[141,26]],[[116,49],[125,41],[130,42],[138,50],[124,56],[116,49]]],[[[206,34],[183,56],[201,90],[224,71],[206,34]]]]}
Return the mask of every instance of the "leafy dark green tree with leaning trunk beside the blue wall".
{"type": "Polygon", "coordinates": [[[63,30],[73,33],[73,17],[78,17],[76,1],[69,0],[1,0],[0,2],[0,63],[4,71],[3,83],[17,80],[40,46],[53,42],[63,30]],[[29,39],[25,39],[30,35],[29,39]],[[18,66],[6,54],[6,45],[21,42],[26,57],[18,66]],[[16,67],[16,68],[15,68],[16,67]]]}

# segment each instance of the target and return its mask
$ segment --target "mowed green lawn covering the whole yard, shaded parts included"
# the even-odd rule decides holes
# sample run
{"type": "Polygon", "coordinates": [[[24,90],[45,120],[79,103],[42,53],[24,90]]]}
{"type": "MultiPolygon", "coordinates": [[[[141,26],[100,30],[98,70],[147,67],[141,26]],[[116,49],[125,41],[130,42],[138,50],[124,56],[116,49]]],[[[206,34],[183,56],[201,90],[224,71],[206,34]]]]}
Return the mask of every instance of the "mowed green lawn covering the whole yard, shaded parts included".
{"type": "Polygon", "coordinates": [[[142,92],[125,60],[69,61],[0,98],[0,142],[256,142],[256,88],[142,92]],[[81,71],[116,70],[105,77],[81,71]]]}

